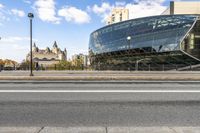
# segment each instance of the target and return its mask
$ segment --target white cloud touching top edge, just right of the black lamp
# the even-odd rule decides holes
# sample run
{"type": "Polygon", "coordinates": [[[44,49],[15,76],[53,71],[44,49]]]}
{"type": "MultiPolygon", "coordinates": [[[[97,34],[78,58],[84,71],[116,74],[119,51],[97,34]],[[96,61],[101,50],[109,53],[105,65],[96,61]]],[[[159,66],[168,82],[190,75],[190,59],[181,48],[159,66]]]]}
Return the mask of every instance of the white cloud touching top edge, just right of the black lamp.
{"type": "Polygon", "coordinates": [[[34,4],[39,18],[45,22],[60,23],[60,18],[56,16],[54,0],[37,0],[34,4]]]}

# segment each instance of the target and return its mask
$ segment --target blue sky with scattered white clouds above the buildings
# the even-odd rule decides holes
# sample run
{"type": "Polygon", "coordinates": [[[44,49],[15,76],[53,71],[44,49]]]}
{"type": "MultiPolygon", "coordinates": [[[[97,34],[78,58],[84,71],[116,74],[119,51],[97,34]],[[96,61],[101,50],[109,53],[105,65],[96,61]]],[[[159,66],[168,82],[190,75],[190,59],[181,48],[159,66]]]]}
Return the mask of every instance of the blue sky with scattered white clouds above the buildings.
{"type": "MultiPolygon", "coordinates": [[[[181,0],[176,0],[181,1],[181,0]]],[[[184,1],[184,0],[182,0],[184,1]]],[[[187,0],[194,1],[194,0],[187,0]]],[[[198,0],[197,0],[198,1],[198,0]]],[[[170,0],[0,0],[0,59],[21,62],[29,52],[29,18],[32,12],[33,41],[52,48],[54,41],[73,54],[88,54],[90,33],[105,26],[115,7],[129,9],[130,19],[159,15],[170,0]]]]}

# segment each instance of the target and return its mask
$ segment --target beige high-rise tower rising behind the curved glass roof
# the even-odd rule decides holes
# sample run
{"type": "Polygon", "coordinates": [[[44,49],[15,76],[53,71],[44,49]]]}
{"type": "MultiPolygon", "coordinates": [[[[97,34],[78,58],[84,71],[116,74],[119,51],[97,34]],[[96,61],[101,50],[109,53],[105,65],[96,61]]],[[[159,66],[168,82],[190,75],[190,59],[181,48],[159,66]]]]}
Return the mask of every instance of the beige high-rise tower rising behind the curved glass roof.
{"type": "Polygon", "coordinates": [[[112,10],[111,16],[107,19],[107,25],[118,23],[129,19],[129,10],[125,8],[115,8],[112,10]]]}

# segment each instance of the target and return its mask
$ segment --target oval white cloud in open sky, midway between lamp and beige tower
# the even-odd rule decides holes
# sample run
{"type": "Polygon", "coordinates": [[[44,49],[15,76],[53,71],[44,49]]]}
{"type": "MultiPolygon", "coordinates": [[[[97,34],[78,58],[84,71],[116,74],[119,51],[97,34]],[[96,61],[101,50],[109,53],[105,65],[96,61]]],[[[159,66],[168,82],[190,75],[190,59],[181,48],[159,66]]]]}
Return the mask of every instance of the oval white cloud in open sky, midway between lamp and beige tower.
{"type": "Polygon", "coordinates": [[[89,23],[91,19],[87,12],[76,7],[64,7],[58,11],[58,15],[64,17],[67,22],[77,24],[89,23]]]}

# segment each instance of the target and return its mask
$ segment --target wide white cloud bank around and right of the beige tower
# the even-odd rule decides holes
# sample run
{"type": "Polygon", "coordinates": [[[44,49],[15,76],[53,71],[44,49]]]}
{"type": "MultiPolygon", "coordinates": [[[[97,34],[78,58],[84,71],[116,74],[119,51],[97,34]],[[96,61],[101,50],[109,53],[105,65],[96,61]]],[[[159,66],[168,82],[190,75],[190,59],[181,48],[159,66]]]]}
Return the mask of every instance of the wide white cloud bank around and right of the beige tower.
{"type": "Polygon", "coordinates": [[[103,2],[100,6],[94,5],[92,11],[102,18],[102,22],[105,22],[106,18],[111,14],[111,11],[115,7],[125,7],[129,9],[129,18],[139,18],[152,15],[159,15],[167,9],[162,3],[165,0],[135,0],[134,3],[115,2],[111,5],[103,2]]]}

